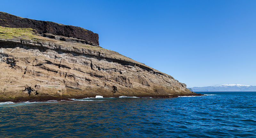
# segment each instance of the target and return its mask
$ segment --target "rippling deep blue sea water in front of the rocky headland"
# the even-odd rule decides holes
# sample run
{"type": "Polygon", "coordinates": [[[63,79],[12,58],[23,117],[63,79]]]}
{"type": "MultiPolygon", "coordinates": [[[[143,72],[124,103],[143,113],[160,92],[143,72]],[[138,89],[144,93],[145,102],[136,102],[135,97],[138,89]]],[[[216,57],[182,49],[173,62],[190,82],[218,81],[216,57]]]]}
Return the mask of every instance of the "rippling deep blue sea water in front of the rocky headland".
{"type": "Polygon", "coordinates": [[[256,137],[256,92],[200,93],[0,103],[0,137],[256,137]]]}

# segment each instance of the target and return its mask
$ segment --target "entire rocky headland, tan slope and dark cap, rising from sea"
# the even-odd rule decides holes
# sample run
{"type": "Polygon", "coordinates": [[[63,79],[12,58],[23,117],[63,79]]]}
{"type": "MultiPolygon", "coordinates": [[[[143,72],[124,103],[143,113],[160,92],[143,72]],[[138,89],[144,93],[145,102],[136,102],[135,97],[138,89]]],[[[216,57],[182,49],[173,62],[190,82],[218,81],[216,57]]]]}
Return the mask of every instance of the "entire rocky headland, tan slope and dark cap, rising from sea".
{"type": "Polygon", "coordinates": [[[99,46],[97,33],[0,12],[0,101],[200,96],[172,76],[99,46]]]}

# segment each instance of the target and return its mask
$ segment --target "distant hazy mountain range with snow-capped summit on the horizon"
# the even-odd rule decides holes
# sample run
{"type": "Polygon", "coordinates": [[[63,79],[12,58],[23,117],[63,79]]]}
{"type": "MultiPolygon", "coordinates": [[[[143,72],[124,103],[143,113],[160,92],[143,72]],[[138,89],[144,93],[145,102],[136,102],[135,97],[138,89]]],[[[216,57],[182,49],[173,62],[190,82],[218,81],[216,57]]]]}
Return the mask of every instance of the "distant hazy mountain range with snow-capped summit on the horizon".
{"type": "Polygon", "coordinates": [[[241,84],[221,84],[207,87],[192,87],[190,91],[256,91],[256,86],[241,84]]]}

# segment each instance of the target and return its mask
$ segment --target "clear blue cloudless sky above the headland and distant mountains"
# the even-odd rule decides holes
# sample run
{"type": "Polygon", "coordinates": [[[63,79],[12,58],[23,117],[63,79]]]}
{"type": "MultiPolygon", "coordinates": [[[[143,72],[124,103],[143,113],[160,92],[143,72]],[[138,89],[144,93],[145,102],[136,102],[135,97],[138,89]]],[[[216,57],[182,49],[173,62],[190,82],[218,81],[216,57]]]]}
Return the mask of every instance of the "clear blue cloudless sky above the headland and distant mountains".
{"type": "Polygon", "coordinates": [[[188,87],[256,85],[255,0],[5,0],[0,11],[91,30],[188,87]]]}

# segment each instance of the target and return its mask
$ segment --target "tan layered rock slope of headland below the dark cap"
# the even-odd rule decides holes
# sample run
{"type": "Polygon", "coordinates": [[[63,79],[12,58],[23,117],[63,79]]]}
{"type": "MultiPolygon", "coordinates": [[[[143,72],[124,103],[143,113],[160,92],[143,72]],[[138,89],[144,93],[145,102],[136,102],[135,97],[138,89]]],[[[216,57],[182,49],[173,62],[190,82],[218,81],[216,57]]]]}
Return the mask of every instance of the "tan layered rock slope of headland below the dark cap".
{"type": "Polygon", "coordinates": [[[196,95],[172,76],[115,51],[82,43],[0,39],[0,97],[196,95]]]}

